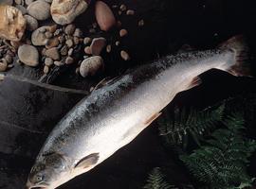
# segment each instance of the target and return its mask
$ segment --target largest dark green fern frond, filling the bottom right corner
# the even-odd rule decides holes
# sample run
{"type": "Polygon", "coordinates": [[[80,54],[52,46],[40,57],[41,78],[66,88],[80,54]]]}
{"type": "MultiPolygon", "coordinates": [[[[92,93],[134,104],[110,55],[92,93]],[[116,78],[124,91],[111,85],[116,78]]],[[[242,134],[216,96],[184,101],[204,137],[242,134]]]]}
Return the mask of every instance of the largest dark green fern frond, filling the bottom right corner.
{"type": "Polygon", "coordinates": [[[244,188],[251,184],[247,175],[248,157],[256,149],[256,142],[243,135],[244,118],[241,114],[228,116],[224,121],[227,129],[217,129],[207,141],[191,155],[180,159],[199,182],[218,189],[244,188]]]}

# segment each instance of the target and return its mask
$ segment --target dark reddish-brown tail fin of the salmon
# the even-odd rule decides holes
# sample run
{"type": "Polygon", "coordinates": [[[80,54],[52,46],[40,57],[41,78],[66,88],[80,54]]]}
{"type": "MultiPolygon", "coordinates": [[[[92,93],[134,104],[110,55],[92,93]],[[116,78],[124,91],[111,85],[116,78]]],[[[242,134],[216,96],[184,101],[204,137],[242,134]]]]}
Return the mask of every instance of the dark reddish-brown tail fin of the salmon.
{"type": "Polygon", "coordinates": [[[231,75],[237,77],[251,77],[247,42],[244,36],[232,37],[227,42],[219,45],[220,49],[232,50],[235,53],[233,64],[227,70],[231,75]]]}

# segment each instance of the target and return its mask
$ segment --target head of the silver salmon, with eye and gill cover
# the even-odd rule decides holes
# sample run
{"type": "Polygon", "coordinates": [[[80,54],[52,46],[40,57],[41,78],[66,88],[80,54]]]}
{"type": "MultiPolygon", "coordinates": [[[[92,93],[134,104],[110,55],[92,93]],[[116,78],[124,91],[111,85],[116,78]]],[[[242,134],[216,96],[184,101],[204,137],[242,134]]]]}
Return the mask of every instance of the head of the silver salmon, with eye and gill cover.
{"type": "Polygon", "coordinates": [[[71,180],[71,162],[63,155],[52,153],[37,159],[27,179],[27,189],[54,189],[71,180]]]}

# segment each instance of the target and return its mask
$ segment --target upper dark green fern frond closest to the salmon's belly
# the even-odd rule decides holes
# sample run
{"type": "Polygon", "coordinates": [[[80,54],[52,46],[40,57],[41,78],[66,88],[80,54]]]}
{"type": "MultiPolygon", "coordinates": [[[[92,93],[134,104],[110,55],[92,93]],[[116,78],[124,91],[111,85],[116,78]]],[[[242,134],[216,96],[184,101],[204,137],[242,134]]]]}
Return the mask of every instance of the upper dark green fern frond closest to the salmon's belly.
{"type": "Polygon", "coordinates": [[[222,120],[225,104],[215,108],[207,109],[203,112],[185,110],[175,112],[174,120],[159,120],[160,135],[164,136],[169,144],[175,144],[186,148],[189,136],[200,146],[202,136],[213,129],[216,123],[222,120]]]}

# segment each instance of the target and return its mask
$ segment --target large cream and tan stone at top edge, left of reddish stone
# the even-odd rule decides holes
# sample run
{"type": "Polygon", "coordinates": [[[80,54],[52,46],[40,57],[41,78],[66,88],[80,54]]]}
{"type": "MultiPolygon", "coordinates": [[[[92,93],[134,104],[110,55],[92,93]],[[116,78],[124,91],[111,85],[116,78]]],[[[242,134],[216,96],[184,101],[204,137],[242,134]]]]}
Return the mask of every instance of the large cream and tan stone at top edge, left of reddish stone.
{"type": "Polygon", "coordinates": [[[53,0],[50,9],[52,19],[62,26],[70,24],[88,8],[88,2],[88,0],[53,0]]]}

